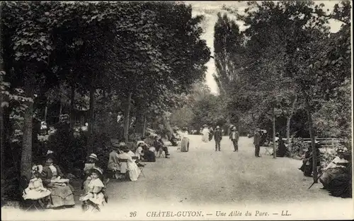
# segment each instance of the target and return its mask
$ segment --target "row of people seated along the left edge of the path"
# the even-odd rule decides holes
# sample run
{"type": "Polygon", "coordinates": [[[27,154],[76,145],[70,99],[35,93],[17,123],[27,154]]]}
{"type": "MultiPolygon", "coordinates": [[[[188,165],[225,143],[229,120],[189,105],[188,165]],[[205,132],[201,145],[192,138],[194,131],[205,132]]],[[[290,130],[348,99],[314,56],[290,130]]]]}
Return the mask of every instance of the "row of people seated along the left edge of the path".
{"type": "MultiPolygon", "coordinates": [[[[137,142],[135,152],[124,142],[114,143],[109,154],[108,171],[112,171],[116,179],[127,174],[131,181],[137,181],[141,173],[140,167],[144,167],[141,162],[155,162],[156,152],[160,148],[165,152],[166,158],[169,158],[169,150],[159,136],[154,136],[154,139],[151,139],[151,136],[141,138],[141,141],[137,142]]],[[[54,153],[49,150],[45,155],[44,166],[33,165],[32,177],[23,190],[23,199],[38,200],[43,208],[73,207],[74,188],[67,178],[59,165],[55,164],[54,153]]],[[[105,188],[109,178],[106,178],[96,154],[91,153],[86,158],[82,178],[81,189],[84,190],[84,194],[79,198],[79,201],[82,201],[82,208],[88,210],[91,206],[99,211],[100,205],[108,202],[105,188]]]]}

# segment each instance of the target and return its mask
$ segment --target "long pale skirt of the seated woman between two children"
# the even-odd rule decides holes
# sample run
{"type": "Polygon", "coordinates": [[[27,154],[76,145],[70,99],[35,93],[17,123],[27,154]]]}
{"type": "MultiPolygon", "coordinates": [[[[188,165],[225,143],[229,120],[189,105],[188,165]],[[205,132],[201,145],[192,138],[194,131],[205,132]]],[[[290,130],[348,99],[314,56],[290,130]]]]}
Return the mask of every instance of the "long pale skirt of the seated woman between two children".
{"type": "Polygon", "coordinates": [[[68,186],[51,185],[47,189],[51,192],[48,208],[57,208],[62,205],[75,205],[73,188],[68,186]]]}

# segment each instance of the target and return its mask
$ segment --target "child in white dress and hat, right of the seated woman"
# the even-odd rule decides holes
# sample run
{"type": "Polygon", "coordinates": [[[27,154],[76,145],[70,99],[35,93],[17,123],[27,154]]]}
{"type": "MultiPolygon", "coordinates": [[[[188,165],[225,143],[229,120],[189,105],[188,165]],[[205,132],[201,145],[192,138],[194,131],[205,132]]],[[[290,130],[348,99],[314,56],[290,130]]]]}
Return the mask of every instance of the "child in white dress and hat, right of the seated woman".
{"type": "Polygon", "coordinates": [[[84,201],[83,209],[87,210],[88,204],[93,205],[96,210],[100,211],[99,205],[103,205],[105,201],[105,196],[103,194],[103,189],[105,185],[101,181],[103,171],[98,167],[91,169],[91,180],[85,188],[84,196],[79,198],[80,201],[84,201]]]}

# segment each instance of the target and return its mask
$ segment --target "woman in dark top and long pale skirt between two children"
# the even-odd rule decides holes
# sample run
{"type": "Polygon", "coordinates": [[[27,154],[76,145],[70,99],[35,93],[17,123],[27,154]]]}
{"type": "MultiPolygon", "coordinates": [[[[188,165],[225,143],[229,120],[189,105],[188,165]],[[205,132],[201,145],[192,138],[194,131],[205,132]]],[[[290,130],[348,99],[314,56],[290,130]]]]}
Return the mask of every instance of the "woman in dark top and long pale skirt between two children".
{"type": "Polygon", "coordinates": [[[69,179],[62,179],[64,174],[62,174],[58,165],[53,164],[55,157],[52,154],[47,155],[45,159],[45,166],[40,178],[45,187],[51,192],[47,208],[74,206],[74,189],[69,184],[69,179]]]}

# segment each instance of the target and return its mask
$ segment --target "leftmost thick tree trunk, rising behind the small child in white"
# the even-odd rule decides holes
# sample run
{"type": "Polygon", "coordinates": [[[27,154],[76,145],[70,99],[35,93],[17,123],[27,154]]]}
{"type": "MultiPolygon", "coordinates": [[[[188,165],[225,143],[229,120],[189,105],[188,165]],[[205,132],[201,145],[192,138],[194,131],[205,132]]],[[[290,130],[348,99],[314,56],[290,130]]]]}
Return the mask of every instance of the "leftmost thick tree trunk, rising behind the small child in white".
{"type": "MultiPolygon", "coordinates": [[[[32,75],[33,73],[29,73],[32,75]]],[[[31,77],[30,77],[31,78],[31,77]]],[[[33,98],[33,79],[25,80],[25,96],[33,98]]],[[[28,107],[25,109],[23,123],[23,138],[21,151],[21,176],[30,179],[32,167],[32,129],[33,129],[33,102],[27,102],[28,107]]]]}

